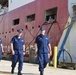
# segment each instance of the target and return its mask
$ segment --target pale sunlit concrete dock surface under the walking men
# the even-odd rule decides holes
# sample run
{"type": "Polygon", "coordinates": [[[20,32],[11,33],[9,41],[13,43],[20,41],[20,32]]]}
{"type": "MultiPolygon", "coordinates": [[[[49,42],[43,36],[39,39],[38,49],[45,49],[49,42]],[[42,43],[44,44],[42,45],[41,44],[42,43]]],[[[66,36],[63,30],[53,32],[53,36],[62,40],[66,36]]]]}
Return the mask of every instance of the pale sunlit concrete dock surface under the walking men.
{"type": "MultiPolygon", "coordinates": [[[[2,60],[0,62],[0,75],[17,75],[18,64],[15,68],[15,73],[11,74],[11,61],[2,60]]],[[[38,65],[31,63],[24,63],[23,75],[39,75],[38,65]]],[[[45,69],[44,75],[76,75],[76,70],[73,69],[63,69],[63,68],[53,68],[47,67],[45,69]]]]}

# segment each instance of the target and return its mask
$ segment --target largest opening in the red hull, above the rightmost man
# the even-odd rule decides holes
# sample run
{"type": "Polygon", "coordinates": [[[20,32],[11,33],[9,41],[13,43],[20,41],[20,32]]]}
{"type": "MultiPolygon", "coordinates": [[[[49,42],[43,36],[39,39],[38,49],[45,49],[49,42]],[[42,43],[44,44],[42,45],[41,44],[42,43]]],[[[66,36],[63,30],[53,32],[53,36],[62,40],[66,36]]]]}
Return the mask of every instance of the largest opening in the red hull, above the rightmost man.
{"type": "Polygon", "coordinates": [[[45,11],[45,22],[54,22],[57,16],[57,7],[45,11]]]}

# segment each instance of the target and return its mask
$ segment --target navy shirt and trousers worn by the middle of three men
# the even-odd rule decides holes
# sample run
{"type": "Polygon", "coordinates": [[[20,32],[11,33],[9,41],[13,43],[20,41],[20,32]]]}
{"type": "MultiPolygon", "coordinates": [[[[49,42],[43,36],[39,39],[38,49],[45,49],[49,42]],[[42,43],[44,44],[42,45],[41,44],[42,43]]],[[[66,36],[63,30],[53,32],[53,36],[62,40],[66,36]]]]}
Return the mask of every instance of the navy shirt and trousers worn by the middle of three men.
{"type": "Polygon", "coordinates": [[[15,51],[15,54],[12,56],[12,68],[16,66],[16,63],[19,61],[18,70],[22,70],[23,66],[23,45],[25,44],[24,38],[18,38],[18,36],[14,36],[11,40],[11,43],[13,43],[13,49],[15,51]]]}

